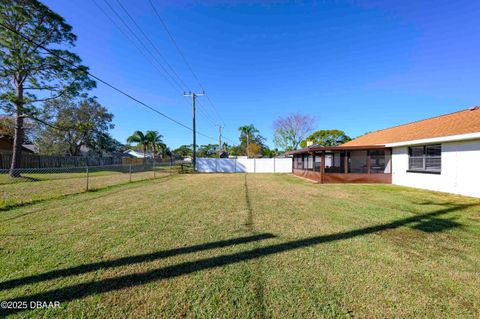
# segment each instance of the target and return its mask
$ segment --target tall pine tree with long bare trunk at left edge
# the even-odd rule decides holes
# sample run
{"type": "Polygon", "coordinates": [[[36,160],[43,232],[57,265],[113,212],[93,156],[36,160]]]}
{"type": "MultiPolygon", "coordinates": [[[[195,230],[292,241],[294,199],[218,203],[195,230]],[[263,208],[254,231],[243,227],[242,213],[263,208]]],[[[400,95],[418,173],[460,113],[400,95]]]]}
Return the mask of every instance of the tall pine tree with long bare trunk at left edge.
{"type": "Polygon", "coordinates": [[[0,23],[0,106],[15,116],[10,175],[16,177],[24,119],[36,115],[38,103],[76,96],[94,87],[95,81],[86,73],[87,67],[74,66],[81,62],[76,54],[59,48],[74,45],[72,27],[39,1],[1,1],[0,23]],[[40,46],[50,47],[55,55],[46,54],[40,46]]]}

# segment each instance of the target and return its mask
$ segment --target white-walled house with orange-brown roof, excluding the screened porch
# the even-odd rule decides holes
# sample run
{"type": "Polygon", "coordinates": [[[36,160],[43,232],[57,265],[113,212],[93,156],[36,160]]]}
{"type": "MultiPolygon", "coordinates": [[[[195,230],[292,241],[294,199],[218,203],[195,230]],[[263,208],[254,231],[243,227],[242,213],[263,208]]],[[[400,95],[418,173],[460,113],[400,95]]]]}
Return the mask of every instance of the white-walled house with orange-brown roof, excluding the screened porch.
{"type": "Polygon", "coordinates": [[[372,132],[342,146],[392,149],[392,184],[480,197],[480,107],[372,132]]]}

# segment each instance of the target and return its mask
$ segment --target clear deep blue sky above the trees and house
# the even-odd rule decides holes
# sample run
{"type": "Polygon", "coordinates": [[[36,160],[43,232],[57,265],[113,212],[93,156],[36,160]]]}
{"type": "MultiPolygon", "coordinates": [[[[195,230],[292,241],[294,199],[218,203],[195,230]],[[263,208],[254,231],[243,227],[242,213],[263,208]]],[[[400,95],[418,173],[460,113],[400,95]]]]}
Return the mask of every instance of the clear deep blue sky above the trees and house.
{"type": "MultiPolygon", "coordinates": [[[[95,1],[116,19],[104,0],[95,1]]],[[[117,0],[108,1],[134,29],[117,0]]],[[[199,91],[148,0],[120,1],[180,77],[199,91]]],[[[478,1],[153,1],[234,141],[239,126],[254,124],[273,146],[272,122],[292,112],[316,116],[318,129],[342,129],[355,137],[480,104],[478,1]]],[[[44,2],[73,26],[74,51],[94,74],[191,125],[182,92],[172,89],[93,0],[44,2]]],[[[134,130],[151,129],[173,148],[191,144],[189,131],[102,84],[93,94],[114,113],[112,134],[121,142],[134,130]]],[[[203,114],[198,129],[217,137],[203,114]]],[[[199,144],[214,142],[198,137],[199,144]]]]}

